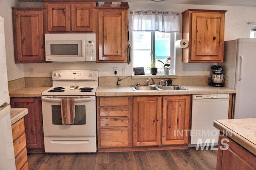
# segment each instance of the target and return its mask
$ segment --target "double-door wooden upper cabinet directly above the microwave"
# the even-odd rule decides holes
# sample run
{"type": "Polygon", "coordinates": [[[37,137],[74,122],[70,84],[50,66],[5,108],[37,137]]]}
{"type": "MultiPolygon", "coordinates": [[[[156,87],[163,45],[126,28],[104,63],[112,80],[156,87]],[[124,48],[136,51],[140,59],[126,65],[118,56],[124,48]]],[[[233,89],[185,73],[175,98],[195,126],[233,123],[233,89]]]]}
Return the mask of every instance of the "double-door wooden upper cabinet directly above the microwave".
{"type": "Polygon", "coordinates": [[[46,3],[49,32],[94,31],[94,2],[46,3]]]}

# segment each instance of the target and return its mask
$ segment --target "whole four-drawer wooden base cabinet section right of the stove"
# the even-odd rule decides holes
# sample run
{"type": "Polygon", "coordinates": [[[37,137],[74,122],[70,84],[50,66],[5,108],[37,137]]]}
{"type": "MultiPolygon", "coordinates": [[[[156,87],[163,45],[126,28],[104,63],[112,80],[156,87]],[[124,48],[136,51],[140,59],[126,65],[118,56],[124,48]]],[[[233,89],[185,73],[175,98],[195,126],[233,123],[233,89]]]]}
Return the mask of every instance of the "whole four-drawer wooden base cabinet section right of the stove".
{"type": "Polygon", "coordinates": [[[130,97],[97,98],[99,151],[132,146],[131,101],[130,97]]]}

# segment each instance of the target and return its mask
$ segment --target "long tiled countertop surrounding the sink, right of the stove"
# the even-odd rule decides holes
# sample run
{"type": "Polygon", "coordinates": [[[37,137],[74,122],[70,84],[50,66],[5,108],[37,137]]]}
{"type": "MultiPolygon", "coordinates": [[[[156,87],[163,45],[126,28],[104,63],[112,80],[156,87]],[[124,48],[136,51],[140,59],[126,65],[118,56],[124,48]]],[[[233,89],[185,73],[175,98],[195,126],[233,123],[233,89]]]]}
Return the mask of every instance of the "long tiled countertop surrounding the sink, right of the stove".
{"type": "Polygon", "coordinates": [[[188,90],[133,91],[130,86],[99,86],[96,96],[146,96],[146,95],[190,95],[190,94],[232,94],[236,90],[226,87],[182,86],[188,90]]]}

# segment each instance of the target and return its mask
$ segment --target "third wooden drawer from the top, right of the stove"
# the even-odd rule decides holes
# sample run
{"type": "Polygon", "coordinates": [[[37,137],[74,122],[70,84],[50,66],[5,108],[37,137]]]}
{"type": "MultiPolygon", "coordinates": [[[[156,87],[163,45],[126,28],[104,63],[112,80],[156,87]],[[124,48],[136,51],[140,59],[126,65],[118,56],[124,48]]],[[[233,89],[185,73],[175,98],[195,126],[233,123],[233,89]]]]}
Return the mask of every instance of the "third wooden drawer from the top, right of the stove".
{"type": "Polygon", "coordinates": [[[100,127],[127,127],[128,118],[124,117],[110,117],[110,118],[101,118],[100,127]]]}

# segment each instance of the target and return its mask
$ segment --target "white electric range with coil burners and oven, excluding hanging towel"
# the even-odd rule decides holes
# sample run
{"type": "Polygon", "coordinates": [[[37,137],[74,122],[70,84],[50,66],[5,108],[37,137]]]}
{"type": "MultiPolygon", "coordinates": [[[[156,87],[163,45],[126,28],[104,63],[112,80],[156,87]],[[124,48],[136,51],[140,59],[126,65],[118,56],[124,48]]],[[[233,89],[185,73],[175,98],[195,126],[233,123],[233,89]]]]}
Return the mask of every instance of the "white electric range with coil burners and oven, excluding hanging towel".
{"type": "Polygon", "coordinates": [[[96,152],[96,70],[55,70],[42,92],[45,152],[96,152]],[[63,100],[73,100],[72,124],[63,123],[63,100]]]}

